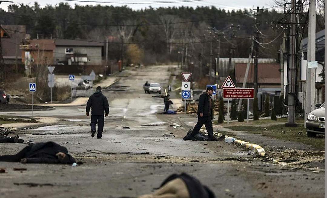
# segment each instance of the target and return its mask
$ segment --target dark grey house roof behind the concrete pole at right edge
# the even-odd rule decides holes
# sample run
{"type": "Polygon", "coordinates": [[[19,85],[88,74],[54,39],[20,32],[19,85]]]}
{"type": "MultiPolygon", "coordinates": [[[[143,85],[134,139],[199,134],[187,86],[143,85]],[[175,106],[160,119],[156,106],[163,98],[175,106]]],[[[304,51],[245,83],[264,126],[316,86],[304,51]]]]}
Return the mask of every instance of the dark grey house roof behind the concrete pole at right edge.
{"type": "MultiPolygon", "coordinates": [[[[304,59],[306,60],[306,52],[308,48],[308,38],[302,39],[302,50],[304,52],[304,59]]],[[[316,60],[325,60],[325,30],[316,33],[316,60]]]]}

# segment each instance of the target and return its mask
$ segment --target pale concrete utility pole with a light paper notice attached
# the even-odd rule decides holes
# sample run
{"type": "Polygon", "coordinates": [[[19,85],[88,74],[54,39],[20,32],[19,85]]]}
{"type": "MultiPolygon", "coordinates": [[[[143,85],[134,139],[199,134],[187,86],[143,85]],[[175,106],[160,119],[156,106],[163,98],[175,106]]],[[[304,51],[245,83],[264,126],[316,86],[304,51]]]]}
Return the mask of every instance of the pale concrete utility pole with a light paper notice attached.
{"type": "Polygon", "coordinates": [[[308,68],[310,62],[316,60],[316,0],[310,0],[309,4],[309,26],[308,47],[306,67],[306,92],[305,92],[305,114],[304,127],[308,114],[315,109],[316,97],[316,68],[308,68]]]}

